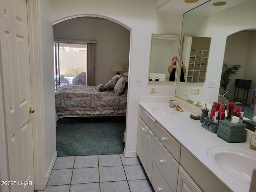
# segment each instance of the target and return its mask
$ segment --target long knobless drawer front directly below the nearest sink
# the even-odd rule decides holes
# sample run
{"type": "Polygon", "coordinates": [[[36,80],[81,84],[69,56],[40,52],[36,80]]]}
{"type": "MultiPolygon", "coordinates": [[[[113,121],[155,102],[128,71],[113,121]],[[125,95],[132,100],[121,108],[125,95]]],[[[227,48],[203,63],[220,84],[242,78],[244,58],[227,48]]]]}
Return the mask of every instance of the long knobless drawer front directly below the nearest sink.
{"type": "Polygon", "coordinates": [[[207,192],[230,192],[211,172],[209,172],[190,152],[181,148],[180,164],[194,181],[207,192]]]}

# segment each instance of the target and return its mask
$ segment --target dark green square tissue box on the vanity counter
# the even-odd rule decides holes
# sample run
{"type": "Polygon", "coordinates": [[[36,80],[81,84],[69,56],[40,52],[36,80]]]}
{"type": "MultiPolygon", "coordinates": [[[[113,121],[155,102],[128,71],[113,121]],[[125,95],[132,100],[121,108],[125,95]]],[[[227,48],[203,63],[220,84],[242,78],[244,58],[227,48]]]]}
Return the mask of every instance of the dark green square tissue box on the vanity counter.
{"type": "Polygon", "coordinates": [[[229,120],[220,120],[217,136],[229,143],[240,143],[246,141],[246,124],[231,123],[229,120]]]}

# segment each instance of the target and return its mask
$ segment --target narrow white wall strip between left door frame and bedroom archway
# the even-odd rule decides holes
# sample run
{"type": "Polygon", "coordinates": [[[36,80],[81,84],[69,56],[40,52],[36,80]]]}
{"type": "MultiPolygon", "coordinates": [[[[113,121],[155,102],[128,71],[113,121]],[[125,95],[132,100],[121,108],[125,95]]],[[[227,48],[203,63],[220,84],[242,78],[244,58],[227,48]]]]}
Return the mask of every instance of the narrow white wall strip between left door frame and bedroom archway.
{"type": "Polygon", "coordinates": [[[40,1],[41,35],[42,35],[42,68],[44,78],[44,130],[46,173],[56,153],[55,129],[55,86],[53,65],[53,28],[50,20],[49,0],[40,1]]]}

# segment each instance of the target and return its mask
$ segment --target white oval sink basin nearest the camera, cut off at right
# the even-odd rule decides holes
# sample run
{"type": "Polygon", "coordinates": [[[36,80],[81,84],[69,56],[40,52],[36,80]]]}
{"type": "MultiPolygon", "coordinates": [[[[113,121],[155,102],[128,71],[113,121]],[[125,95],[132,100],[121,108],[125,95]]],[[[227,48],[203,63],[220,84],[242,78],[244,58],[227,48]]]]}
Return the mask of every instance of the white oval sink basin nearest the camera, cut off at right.
{"type": "Polygon", "coordinates": [[[214,147],[208,151],[207,156],[224,172],[250,185],[256,153],[235,147],[214,147]]]}

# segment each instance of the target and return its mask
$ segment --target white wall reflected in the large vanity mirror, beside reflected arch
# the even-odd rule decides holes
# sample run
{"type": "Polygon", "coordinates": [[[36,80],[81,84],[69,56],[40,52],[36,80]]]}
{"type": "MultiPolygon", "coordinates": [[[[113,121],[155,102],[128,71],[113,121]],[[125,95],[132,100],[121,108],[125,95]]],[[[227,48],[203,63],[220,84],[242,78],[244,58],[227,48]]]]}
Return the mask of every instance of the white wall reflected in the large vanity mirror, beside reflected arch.
{"type": "Polygon", "coordinates": [[[217,101],[226,38],[241,30],[256,29],[255,7],[256,1],[249,0],[208,17],[192,15],[184,16],[182,38],[184,35],[202,36],[211,37],[212,40],[206,83],[178,83],[176,86],[177,95],[184,96],[187,94],[189,97],[193,97],[195,94],[191,94],[191,88],[200,88],[201,93],[198,96],[202,97],[203,102],[212,103],[217,101]],[[215,88],[208,88],[208,80],[216,80],[215,88]]]}

